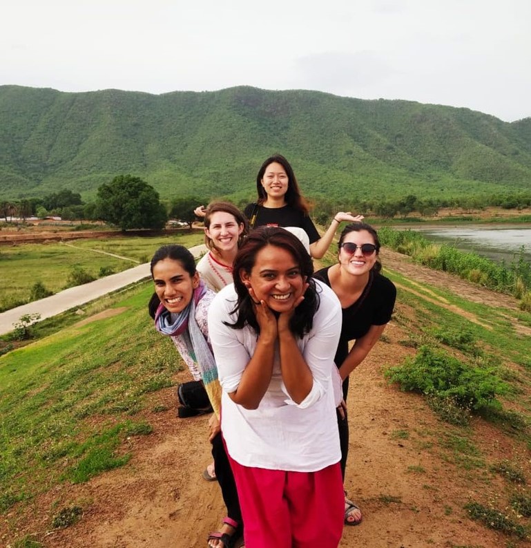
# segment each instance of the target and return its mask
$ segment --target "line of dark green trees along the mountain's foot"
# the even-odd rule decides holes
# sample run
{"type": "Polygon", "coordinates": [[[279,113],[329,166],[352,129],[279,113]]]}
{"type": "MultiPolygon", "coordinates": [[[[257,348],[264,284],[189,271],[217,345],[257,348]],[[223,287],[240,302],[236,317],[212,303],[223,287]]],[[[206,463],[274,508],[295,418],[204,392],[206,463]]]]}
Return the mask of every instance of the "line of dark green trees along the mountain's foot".
{"type": "MultiPolygon", "coordinates": [[[[193,209],[203,203],[204,198],[186,195],[172,200],[161,201],[159,193],[146,181],[137,176],[119,175],[97,190],[93,202],[83,202],[81,195],[68,189],[50,193],[44,198],[24,198],[21,200],[0,200],[0,220],[12,223],[28,217],[60,216],[64,220],[102,220],[122,230],[162,229],[168,218],[182,220],[191,227],[196,219],[193,209]]],[[[240,200],[244,207],[248,200],[240,200]]],[[[348,202],[319,197],[314,200],[312,216],[316,223],[327,225],[338,209],[351,210],[365,216],[371,214],[383,218],[408,216],[434,216],[444,207],[462,209],[482,209],[503,207],[523,209],[531,207],[531,192],[517,191],[478,196],[458,196],[449,198],[420,198],[409,194],[397,199],[371,200],[349,198],[348,202]]]]}

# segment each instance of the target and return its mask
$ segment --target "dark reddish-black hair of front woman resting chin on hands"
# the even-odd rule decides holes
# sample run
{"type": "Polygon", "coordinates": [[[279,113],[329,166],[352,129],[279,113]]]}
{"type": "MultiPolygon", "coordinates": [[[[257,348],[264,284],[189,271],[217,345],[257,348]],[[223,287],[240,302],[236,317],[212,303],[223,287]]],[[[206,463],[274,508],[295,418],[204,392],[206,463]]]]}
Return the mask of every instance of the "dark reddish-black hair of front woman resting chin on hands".
{"type": "Polygon", "coordinates": [[[306,276],[306,281],[309,283],[305,298],[298,305],[295,314],[291,316],[289,321],[291,332],[302,338],[305,333],[311,330],[313,315],[317,312],[320,302],[316,282],[312,277],[313,262],[297,236],[280,227],[258,227],[249,233],[242,247],[238,249],[233,264],[234,289],[238,294],[238,301],[234,310],[231,311],[231,314],[237,314],[237,319],[235,323],[225,323],[233,329],[242,329],[245,325],[250,325],[255,332],[260,333],[260,325],[256,321],[251,296],[247,286],[242,281],[241,274],[251,273],[258,252],[267,245],[280,247],[289,252],[299,265],[301,276],[306,276]]]}

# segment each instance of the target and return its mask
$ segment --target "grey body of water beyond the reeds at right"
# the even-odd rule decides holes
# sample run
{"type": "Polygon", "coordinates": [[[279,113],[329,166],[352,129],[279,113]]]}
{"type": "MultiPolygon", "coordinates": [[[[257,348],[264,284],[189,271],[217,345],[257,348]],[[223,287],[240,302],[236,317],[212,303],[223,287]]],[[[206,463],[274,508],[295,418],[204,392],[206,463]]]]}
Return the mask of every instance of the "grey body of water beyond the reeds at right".
{"type": "Polygon", "coordinates": [[[531,227],[492,228],[492,227],[452,227],[421,228],[412,227],[421,232],[428,240],[437,243],[450,243],[458,249],[475,252],[492,258],[494,261],[512,263],[521,247],[524,256],[531,261],[531,227]]]}

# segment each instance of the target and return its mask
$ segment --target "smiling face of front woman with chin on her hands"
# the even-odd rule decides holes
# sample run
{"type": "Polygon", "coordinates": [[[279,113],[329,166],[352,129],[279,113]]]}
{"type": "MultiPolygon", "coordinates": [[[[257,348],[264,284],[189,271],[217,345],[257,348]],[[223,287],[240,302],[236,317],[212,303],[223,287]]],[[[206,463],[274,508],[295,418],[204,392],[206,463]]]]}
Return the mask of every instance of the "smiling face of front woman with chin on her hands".
{"type": "Polygon", "coordinates": [[[293,308],[304,292],[306,281],[291,253],[276,245],[262,247],[251,272],[241,272],[240,277],[253,288],[258,301],[265,301],[276,312],[293,308]]]}

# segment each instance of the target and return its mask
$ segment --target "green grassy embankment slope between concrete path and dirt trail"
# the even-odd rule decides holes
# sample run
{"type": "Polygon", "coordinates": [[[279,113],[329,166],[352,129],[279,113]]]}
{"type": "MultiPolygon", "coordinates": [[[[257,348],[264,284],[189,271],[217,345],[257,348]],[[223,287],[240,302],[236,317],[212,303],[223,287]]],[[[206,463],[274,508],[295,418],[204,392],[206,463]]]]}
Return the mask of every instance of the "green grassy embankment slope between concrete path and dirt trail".
{"type": "Polygon", "coordinates": [[[181,367],[146,312],[152,291],[144,283],[122,296],[118,316],[0,358],[0,511],[54,482],[125,464],[126,437],[151,432],[135,415],[156,410],[150,395],[171,386],[181,367]]]}

